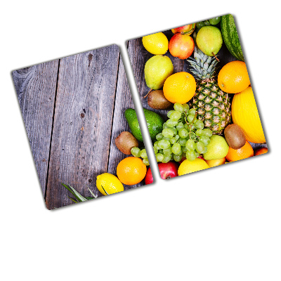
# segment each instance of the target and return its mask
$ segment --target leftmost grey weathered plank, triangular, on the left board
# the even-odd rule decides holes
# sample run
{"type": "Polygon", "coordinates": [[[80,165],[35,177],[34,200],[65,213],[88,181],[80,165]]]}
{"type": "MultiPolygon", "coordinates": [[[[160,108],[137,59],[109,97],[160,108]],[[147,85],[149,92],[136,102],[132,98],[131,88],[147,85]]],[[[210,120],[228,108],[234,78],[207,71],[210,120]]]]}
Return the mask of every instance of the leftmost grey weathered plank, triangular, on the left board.
{"type": "Polygon", "coordinates": [[[12,72],[22,118],[45,196],[58,60],[12,72]]]}

